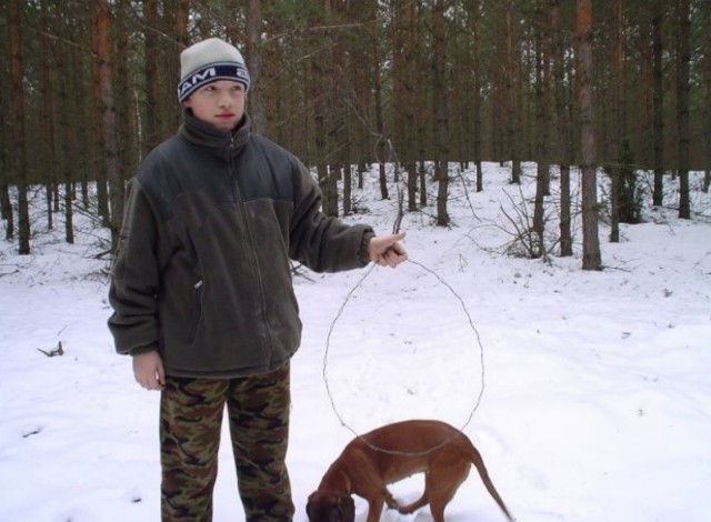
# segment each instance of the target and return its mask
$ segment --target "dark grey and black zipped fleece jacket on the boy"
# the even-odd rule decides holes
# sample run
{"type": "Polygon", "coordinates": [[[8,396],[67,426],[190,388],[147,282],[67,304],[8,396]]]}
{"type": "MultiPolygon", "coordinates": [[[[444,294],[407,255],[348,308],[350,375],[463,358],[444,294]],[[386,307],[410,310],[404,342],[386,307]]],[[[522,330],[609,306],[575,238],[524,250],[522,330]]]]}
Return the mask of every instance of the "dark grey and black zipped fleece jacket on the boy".
{"type": "Polygon", "coordinates": [[[286,363],[301,338],[289,260],[317,272],[369,262],[372,230],[320,207],[308,169],[247,116],[229,133],[186,111],[128,183],[109,291],[117,351],[159,350],[179,377],[286,363]]]}

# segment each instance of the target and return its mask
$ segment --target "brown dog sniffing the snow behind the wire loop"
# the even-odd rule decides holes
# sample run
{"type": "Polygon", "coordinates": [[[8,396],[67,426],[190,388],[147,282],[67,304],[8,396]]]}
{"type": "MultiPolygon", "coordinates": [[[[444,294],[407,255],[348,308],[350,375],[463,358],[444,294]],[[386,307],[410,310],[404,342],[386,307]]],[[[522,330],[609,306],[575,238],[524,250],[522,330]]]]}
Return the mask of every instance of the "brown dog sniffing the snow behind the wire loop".
{"type": "Polygon", "coordinates": [[[444,508],[474,464],[487,490],[512,521],[493,486],[481,454],[461,431],[439,421],[403,421],[353,439],[328,469],[319,489],[309,495],[310,522],[353,522],[351,494],[368,501],[368,522],[378,522],[383,504],[410,514],[430,504],[434,522],[444,522],[444,508]],[[400,506],[388,484],[424,472],[424,492],[400,506]]]}

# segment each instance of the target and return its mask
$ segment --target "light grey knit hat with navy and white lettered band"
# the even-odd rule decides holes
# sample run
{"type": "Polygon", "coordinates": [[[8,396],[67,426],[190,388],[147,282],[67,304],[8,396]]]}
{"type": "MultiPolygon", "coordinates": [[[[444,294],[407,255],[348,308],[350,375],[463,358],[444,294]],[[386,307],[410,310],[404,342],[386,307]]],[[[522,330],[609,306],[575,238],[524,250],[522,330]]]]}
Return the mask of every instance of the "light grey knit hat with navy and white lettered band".
{"type": "Polygon", "coordinates": [[[249,71],[240,51],[219,38],[198,42],[180,53],[178,101],[217,80],[234,80],[249,89],[249,71]]]}

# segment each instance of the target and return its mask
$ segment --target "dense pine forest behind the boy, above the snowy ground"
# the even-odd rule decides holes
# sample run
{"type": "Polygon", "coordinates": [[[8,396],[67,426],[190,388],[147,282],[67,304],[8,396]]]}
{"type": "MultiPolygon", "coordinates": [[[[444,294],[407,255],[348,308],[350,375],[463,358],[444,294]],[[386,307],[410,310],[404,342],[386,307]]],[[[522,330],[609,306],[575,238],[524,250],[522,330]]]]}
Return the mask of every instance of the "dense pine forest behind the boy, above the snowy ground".
{"type": "Polygon", "coordinates": [[[375,168],[382,198],[398,197],[394,178],[403,212],[429,207],[447,225],[452,165],[481,191],[482,162],[509,165],[511,183],[535,162],[535,232],[554,165],[563,188],[581,174],[572,208],[583,268],[598,269],[600,177],[612,241],[640,219],[641,173],[652,204],[678,187],[682,219],[690,172],[709,190],[711,0],[3,0],[4,239],[30,253],[60,214],[72,242],[82,212],[110,231],[110,254],[126,181],[180,124],[180,52],[212,36],[246,58],[253,131],[313,169],[331,215],[356,211],[351,188],[375,168]],[[46,211],[30,217],[38,188],[46,211]]]}

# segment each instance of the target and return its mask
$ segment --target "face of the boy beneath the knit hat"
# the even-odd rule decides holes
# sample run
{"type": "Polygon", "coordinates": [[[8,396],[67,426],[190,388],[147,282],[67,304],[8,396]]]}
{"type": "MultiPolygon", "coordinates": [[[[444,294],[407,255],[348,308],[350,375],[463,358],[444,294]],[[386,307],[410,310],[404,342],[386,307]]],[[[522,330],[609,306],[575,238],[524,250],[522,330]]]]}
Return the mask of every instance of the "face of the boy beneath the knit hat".
{"type": "Polygon", "coordinates": [[[223,131],[231,131],[244,114],[247,90],[232,80],[217,80],[201,87],[183,101],[199,120],[223,131]]]}

